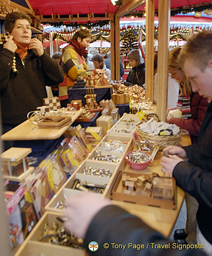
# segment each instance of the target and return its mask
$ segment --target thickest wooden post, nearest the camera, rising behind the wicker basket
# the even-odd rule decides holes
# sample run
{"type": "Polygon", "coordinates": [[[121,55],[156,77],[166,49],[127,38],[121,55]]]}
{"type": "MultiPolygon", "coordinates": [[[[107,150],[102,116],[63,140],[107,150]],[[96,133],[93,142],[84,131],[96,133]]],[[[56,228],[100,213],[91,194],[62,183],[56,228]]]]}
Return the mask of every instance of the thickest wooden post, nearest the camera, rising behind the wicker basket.
{"type": "Polygon", "coordinates": [[[161,121],[167,117],[169,35],[170,35],[170,0],[158,2],[158,88],[157,115],[161,121]]]}

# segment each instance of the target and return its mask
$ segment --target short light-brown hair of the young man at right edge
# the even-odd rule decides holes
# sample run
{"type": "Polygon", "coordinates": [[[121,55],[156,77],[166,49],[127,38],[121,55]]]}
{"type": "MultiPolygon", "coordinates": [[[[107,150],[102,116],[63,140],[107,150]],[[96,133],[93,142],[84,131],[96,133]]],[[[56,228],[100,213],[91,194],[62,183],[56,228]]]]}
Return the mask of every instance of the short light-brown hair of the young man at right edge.
{"type": "Polygon", "coordinates": [[[179,66],[183,69],[186,59],[192,58],[197,67],[202,71],[212,59],[212,32],[201,31],[187,39],[186,44],[182,47],[178,55],[179,66]]]}

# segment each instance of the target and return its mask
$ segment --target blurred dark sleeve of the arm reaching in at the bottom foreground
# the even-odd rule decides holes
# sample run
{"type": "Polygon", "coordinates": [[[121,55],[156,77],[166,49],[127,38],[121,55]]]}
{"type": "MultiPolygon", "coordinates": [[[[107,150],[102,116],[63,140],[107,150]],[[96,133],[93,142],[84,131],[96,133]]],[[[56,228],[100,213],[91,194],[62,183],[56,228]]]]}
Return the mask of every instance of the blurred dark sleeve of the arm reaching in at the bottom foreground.
{"type": "Polygon", "coordinates": [[[197,249],[174,249],[173,247],[177,246],[176,243],[172,244],[164,239],[162,234],[147,226],[142,220],[115,205],[104,207],[91,221],[84,239],[84,247],[89,255],[88,244],[91,241],[96,241],[99,244],[99,249],[92,252],[92,255],[100,256],[205,255],[201,250],[197,249]],[[103,247],[105,243],[109,245],[108,249],[103,247]],[[126,247],[115,249],[113,248],[115,244],[126,245],[126,247]],[[154,249],[152,247],[155,244],[167,244],[166,246],[170,246],[170,249],[154,249]],[[144,245],[145,248],[136,249],[131,245],[144,245]]]}

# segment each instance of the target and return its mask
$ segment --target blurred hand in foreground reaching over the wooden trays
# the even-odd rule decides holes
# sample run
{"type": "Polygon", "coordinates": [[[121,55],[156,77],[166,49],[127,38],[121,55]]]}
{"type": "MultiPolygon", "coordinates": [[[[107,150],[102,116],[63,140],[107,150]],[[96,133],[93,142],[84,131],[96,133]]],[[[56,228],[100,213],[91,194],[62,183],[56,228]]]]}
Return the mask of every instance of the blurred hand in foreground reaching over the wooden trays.
{"type": "Polygon", "coordinates": [[[91,192],[80,192],[77,196],[68,198],[66,202],[64,215],[68,220],[64,223],[64,227],[82,239],[85,238],[93,217],[103,207],[111,204],[109,200],[91,192]]]}

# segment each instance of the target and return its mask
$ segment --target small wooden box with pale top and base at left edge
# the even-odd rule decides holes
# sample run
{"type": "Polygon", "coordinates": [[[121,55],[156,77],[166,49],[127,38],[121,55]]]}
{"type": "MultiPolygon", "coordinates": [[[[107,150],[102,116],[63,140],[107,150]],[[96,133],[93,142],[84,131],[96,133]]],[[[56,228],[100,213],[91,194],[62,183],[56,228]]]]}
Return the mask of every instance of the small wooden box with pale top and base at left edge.
{"type": "Polygon", "coordinates": [[[27,155],[32,152],[31,148],[11,147],[1,154],[3,161],[3,178],[11,181],[25,179],[34,169],[27,164],[27,155]]]}

